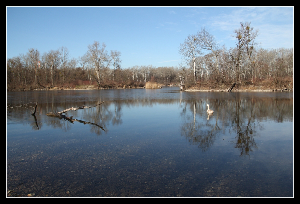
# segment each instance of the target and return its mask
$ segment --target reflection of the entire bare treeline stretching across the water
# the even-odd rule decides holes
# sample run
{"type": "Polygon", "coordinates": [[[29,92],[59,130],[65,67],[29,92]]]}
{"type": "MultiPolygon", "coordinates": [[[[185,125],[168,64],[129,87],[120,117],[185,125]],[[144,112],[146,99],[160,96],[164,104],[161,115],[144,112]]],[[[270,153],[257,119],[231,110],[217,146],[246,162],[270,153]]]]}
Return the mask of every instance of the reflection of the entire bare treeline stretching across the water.
{"type": "MultiPolygon", "coordinates": [[[[75,98],[72,98],[73,92],[70,92],[66,97],[59,96],[62,94],[66,95],[67,93],[69,92],[33,92],[31,98],[26,98],[28,97],[26,94],[14,96],[14,98],[10,97],[7,100],[7,104],[15,104],[15,101],[18,102],[20,100],[24,101],[24,103],[27,103],[27,101],[39,101],[37,115],[42,117],[42,115],[50,111],[58,112],[69,107],[90,106],[101,101],[101,97],[95,100],[94,94],[94,99],[92,96],[90,98],[80,98],[81,96],[78,98],[77,94],[74,94],[75,98]],[[39,98],[39,94],[43,95],[43,97],[39,98]]],[[[101,107],[80,111],[71,110],[69,114],[76,120],[84,121],[83,123],[90,128],[92,133],[101,135],[107,133],[111,125],[122,124],[122,108],[124,107],[134,109],[137,107],[153,107],[158,104],[174,106],[178,106],[179,104],[182,109],[181,134],[191,144],[198,145],[200,149],[206,151],[213,145],[219,135],[229,132],[235,136],[233,143],[236,148],[239,148],[241,155],[249,155],[251,151],[257,148],[255,143],[256,130],[257,128],[263,128],[260,125],[261,121],[293,121],[292,98],[259,98],[255,94],[252,94],[252,96],[251,93],[245,97],[245,93],[223,93],[223,95],[220,94],[221,96],[218,96],[220,99],[208,99],[204,101],[204,99],[197,95],[195,95],[195,99],[193,100],[186,100],[182,98],[182,93],[180,93],[179,99],[151,100],[149,98],[151,93],[151,91],[146,90],[144,97],[133,97],[130,100],[111,99],[110,101],[105,101],[101,107]],[[214,115],[209,116],[209,120],[207,120],[206,104],[210,104],[211,109],[214,110],[214,115]]],[[[16,107],[11,113],[7,113],[7,121],[28,121],[28,115],[31,113],[32,111],[30,110],[16,107]]],[[[35,120],[30,125],[38,130],[44,124],[62,129],[63,131],[68,131],[73,126],[69,121],[64,119],[59,120],[58,118],[53,120],[48,119],[43,123],[36,122],[35,120]]]]}

